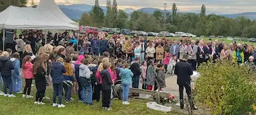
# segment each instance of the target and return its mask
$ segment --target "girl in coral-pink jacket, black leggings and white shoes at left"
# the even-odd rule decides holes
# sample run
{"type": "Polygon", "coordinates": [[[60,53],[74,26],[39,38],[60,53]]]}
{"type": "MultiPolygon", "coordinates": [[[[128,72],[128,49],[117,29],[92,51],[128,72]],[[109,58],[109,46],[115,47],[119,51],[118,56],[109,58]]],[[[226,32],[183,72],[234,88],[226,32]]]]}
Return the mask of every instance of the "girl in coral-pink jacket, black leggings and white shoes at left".
{"type": "Polygon", "coordinates": [[[23,68],[23,78],[25,79],[26,85],[23,90],[22,98],[33,98],[31,96],[31,84],[33,79],[33,64],[30,55],[26,55],[23,58],[22,68],[23,68]],[[26,92],[28,91],[27,95],[26,92]]]}

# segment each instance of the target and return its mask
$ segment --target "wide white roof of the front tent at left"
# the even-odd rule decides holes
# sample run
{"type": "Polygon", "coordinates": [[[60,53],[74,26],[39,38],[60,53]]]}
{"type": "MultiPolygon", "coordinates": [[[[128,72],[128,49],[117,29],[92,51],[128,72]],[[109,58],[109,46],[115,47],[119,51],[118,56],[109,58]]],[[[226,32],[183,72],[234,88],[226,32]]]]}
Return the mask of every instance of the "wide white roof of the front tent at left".
{"type": "Polygon", "coordinates": [[[56,17],[48,9],[9,6],[0,13],[0,28],[78,30],[78,26],[56,17]]]}

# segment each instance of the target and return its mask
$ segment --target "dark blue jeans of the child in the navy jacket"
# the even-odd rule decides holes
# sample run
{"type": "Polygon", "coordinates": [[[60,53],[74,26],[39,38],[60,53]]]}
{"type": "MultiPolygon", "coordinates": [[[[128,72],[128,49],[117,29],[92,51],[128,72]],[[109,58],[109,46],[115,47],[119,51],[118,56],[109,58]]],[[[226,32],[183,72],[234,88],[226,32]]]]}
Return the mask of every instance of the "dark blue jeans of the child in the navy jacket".
{"type": "Polygon", "coordinates": [[[61,99],[63,96],[63,82],[60,84],[53,84],[53,103],[56,104],[56,97],[58,95],[58,104],[61,103],[61,99]]]}

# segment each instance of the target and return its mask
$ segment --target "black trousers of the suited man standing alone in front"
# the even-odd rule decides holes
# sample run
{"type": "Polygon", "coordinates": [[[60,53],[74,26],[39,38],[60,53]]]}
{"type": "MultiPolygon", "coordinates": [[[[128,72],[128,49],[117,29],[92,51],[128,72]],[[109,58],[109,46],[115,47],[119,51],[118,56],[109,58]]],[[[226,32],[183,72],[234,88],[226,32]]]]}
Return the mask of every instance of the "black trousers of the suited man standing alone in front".
{"type": "Polygon", "coordinates": [[[183,104],[183,89],[185,87],[186,94],[188,95],[188,102],[193,106],[193,102],[191,100],[191,87],[189,85],[190,84],[178,85],[178,91],[179,91],[179,95],[180,95],[181,104],[183,104]]]}

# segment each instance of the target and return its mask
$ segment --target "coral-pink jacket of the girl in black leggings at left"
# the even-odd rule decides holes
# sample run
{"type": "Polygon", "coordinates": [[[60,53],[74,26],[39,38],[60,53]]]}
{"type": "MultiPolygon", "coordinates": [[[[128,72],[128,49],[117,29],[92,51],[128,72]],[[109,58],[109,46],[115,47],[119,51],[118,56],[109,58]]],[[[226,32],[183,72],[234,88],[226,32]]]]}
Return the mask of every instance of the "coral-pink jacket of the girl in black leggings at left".
{"type": "Polygon", "coordinates": [[[33,64],[31,62],[26,62],[23,68],[23,77],[25,79],[33,78],[33,64]]]}

